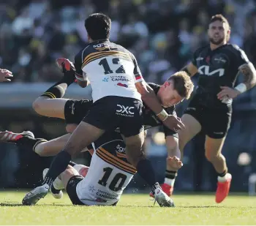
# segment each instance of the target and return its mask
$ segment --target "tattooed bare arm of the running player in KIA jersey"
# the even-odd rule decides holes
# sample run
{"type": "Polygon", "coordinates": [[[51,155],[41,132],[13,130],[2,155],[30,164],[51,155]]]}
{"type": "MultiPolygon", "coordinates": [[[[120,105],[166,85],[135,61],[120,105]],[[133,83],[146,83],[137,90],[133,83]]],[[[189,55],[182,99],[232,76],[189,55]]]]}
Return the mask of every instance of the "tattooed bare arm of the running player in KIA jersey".
{"type": "Polygon", "coordinates": [[[239,70],[244,74],[246,88],[252,88],[256,83],[256,70],[252,63],[242,65],[239,70]]]}

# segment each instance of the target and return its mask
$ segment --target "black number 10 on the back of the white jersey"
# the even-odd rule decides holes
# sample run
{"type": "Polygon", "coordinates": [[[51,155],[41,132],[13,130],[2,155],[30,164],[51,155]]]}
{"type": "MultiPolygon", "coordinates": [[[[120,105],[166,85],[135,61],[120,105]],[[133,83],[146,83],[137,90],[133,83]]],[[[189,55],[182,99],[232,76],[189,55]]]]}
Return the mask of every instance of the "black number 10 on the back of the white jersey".
{"type": "MultiPolygon", "coordinates": [[[[110,177],[111,173],[113,172],[113,169],[110,167],[103,168],[104,175],[102,178],[98,181],[98,184],[106,187],[108,185],[108,178],[110,177]]],[[[127,179],[127,176],[122,173],[116,173],[116,176],[114,176],[113,180],[109,184],[109,189],[113,192],[118,192],[121,190],[121,188],[124,185],[125,180],[127,179]]]]}

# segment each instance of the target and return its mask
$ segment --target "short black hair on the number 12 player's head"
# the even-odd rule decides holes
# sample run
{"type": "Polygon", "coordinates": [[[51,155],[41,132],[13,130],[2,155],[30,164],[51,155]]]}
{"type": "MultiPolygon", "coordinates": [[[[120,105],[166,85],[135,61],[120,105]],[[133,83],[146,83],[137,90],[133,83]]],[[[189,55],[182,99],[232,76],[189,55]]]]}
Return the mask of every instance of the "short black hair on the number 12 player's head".
{"type": "Polygon", "coordinates": [[[108,39],[110,37],[111,20],[108,15],[94,13],[85,20],[86,31],[93,40],[108,39]]]}

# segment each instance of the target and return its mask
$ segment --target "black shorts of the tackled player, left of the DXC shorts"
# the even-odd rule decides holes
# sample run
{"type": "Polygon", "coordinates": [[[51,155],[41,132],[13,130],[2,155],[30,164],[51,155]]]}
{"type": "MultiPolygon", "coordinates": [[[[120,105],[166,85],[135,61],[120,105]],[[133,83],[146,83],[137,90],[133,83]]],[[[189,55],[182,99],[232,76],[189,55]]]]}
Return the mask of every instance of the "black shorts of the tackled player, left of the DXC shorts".
{"type": "Polygon", "coordinates": [[[89,99],[69,99],[64,108],[66,123],[80,124],[80,121],[82,121],[84,116],[86,116],[92,104],[92,100],[89,99]]]}

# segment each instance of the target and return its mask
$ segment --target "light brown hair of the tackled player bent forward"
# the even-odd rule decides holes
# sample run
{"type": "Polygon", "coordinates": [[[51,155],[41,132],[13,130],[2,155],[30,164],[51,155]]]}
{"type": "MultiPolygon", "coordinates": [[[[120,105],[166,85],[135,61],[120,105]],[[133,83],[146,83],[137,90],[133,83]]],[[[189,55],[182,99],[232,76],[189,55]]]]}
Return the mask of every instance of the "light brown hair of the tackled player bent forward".
{"type": "Polygon", "coordinates": [[[178,95],[189,99],[190,95],[192,94],[194,84],[189,75],[187,75],[187,72],[176,72],[170,76],[168,81],[170,80],[173,80],[173,88],[178,92],[178,95]]]}

